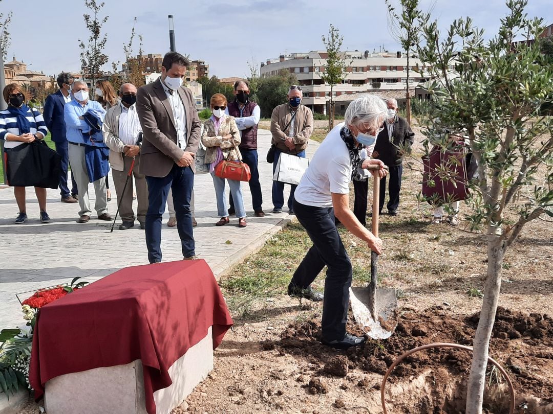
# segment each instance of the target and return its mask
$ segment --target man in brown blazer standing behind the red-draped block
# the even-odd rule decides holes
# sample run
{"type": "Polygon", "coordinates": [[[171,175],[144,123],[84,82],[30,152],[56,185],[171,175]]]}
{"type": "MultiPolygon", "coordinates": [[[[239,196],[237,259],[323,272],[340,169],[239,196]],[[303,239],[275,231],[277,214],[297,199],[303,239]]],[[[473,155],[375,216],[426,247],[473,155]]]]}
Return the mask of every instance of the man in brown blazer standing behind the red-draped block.
{"type": "Polygon", "coordinates": [[[173,190],[176,224],[186,260],[196,256],[190,198],[194,187],[194,157],[200,145],[201,122],[190,89],[182,86],[190,60],[169,52],[161,62],[161,77],[137,93],[137,111],[144,133],[139,172],[148,182],[146,246],[150,263],[161,262],[161,216],[173,190]]]}

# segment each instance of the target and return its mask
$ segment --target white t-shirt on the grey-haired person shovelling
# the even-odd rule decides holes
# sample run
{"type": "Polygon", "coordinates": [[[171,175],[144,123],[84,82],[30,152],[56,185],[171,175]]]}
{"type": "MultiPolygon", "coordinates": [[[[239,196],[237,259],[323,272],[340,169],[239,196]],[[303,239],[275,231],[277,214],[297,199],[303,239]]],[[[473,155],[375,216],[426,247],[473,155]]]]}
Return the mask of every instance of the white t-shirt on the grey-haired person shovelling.
{"type": "Polygon", "coordinates": [[[309,167],[294,193],[298,203],[332,207],[332,194],[348,194],[352,163],[346,143],[340,136],[345,123],[336,125],[309,162],[309,167]]]}

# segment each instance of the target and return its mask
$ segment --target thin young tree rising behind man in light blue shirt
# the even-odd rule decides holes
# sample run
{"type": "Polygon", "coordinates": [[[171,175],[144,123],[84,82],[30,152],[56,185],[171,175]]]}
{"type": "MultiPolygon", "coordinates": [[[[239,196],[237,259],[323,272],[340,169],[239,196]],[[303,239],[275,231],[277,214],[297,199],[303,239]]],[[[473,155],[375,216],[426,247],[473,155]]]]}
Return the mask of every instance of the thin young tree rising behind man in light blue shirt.
{"type": "Polygon", "coordinates": [[[86,28],[90,31],[88,44],[79,39],[79,47],[81,48],[81,64],[83,77],[88,75],[91,79],[92,88],[90,89],[91,97],[94,97],[94,84],[98,76],[103,74],[102,66],[107,63],[108,57],[104,54],[104,49],[107,42],[107,34],[102,36],[102,25],[107,22],[109,16],[103,19],[98,18],[98,13],[104,6],[104,3],[97,3],[96,0],[85,0],[86,8],[90,9],[93,18],[90,14],[85,13],[86,28]]]}

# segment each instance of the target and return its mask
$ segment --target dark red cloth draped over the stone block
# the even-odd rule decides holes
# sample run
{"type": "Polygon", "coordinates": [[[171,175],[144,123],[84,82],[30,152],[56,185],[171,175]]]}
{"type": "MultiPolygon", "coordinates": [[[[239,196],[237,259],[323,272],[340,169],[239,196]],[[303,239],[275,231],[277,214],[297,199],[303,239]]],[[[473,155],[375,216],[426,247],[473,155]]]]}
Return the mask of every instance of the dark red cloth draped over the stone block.
{"type": "Polygon", "coordinates": [[[55,376],[140,359],[154,414],[154,391],[171,385],[169,367],[210,326],[215,349],[232,319],[204,260],[119,270],[40,309],[29,371],[35,399],[55,376]]]}

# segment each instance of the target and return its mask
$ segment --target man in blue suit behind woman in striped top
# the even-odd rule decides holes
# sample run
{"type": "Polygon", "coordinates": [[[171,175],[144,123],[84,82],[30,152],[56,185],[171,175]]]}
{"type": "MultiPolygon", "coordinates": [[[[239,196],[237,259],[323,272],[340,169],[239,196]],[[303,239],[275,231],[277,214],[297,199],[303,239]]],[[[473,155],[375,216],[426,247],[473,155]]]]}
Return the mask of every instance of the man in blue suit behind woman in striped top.
{"type": "Polygon", "coordinates": [[[69,73],[60,73],[58,75],[59,91],[48,95],[44,104],[44,122],[46,128],[50,131],[52,141],[56,145],[56,152],[61,155],[61,173],[60,173],[60,193],[62,203],[77,202],[77,181],[71,172],[72,189],[67,187],[67,166],[69,166],[69,152],[67,151],[67,138],[65,137],[64,107],[71,102],[71,83],[73,78],[69,73]]]}

